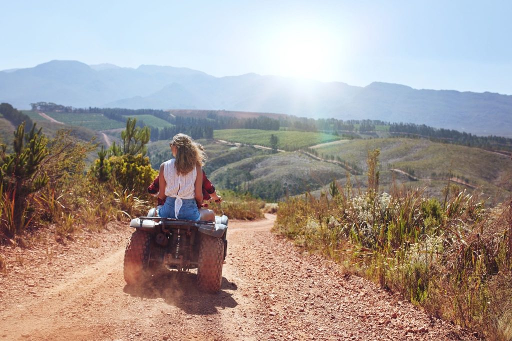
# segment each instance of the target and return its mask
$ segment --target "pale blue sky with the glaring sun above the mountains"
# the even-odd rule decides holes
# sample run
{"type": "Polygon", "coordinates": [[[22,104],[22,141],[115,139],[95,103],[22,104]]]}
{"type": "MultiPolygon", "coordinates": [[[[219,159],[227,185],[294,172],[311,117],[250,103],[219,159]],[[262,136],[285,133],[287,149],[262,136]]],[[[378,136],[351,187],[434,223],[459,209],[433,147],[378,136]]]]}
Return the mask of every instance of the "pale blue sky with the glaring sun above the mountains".
{"type": "Polygon", "coordinates": [[[0,0],[0,70],[53,59],[512,94],[510,1],[0,0]]]}

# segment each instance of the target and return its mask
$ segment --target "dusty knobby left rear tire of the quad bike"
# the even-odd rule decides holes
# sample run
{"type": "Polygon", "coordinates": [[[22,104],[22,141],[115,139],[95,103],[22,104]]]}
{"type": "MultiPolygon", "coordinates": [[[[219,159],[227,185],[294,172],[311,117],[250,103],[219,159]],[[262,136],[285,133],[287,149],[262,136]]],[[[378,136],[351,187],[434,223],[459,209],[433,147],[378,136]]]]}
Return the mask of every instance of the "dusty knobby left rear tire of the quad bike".
{"type": "Polygon", "coordinates": [[[151,235],[144,231],[135,231],[124,250],[123,275],[127,284],[134,285],[144,280],[149,269],[151,253],[151,235]]]}

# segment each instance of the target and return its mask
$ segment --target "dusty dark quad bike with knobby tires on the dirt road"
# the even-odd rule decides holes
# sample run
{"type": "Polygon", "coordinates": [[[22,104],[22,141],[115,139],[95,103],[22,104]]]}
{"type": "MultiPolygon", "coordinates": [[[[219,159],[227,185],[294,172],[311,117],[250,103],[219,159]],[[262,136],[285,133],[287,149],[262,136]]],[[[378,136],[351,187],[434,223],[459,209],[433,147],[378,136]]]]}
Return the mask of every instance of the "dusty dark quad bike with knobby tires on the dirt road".
{"type": "Polygon", "coordinates": [[[162,268],[188,271],[197,268],[199,287],[209,292],[221,288],[222,264],[227,252],[228,218],[195,221],[156,217],[151,209],[147,217],[132,219],[136,231],[124,251],[124,280],[141,284],[162,268]]]}

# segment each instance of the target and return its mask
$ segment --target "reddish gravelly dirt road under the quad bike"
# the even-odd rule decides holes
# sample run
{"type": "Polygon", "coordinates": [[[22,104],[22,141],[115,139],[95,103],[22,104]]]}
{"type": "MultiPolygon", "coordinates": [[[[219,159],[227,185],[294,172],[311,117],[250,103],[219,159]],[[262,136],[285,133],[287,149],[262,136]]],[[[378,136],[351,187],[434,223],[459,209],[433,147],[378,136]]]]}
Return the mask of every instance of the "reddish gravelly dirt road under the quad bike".
{"type": "Polygon", "coordinates": [[[124,224],[65,247],[2,248],[0,340],[469,339],[272,235],[274,219],[229,223],[216,294],[200,292],[194,273],[126,286],[124,224]]]}

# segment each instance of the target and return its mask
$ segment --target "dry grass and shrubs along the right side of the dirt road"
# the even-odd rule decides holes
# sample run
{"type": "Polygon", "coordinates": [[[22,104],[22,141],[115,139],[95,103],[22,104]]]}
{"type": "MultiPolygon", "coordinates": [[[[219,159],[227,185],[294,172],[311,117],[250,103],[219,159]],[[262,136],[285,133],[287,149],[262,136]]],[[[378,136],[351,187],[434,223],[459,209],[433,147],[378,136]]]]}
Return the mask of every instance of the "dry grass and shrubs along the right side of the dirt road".
{"type": "Polygon", "coordinates": [[[431,315],[509,339],[512,201],[486,209],[477,194],[450,185],[444,200],[396,186],[390,194],[356,194],[350,182],[337,188],[280,203],[274,231],[431,315]]]}

